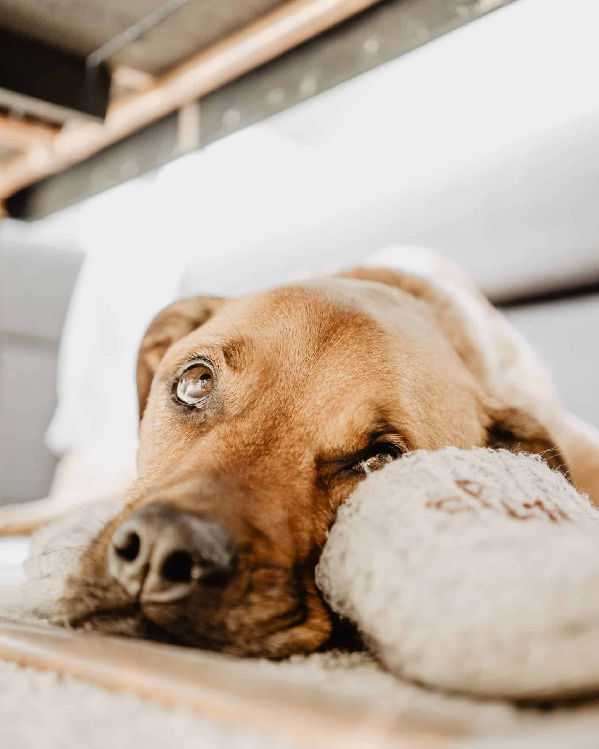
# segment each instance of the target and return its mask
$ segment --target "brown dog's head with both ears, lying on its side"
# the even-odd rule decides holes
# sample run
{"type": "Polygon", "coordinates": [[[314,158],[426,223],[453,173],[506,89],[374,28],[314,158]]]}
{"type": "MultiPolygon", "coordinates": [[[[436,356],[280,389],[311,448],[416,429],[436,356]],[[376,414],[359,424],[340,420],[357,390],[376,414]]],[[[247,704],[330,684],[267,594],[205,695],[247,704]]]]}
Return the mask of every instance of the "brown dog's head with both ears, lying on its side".
{"type": "Polygon", "coordinates": [[[139,354],[139,479],[67,583],[73,626],[281,657],[330,640],[314,568],[358,482],[415,449],[545,452],[451,309],[362,271],[165,309],[139,354]]]}

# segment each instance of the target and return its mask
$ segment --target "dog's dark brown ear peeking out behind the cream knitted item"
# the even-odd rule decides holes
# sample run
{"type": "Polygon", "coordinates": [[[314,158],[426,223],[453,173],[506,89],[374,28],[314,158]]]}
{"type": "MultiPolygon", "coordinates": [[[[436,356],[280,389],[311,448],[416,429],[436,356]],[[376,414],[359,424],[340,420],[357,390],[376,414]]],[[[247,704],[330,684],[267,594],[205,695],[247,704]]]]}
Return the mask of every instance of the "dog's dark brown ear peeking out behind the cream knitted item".
{"type": "Polygon", "coordinates": [[[487,425],[487,447],[535,452],[552,468],[568,476],[568,464],[547,429],[534,416],[517,408],[492,409],[487,425]]]}

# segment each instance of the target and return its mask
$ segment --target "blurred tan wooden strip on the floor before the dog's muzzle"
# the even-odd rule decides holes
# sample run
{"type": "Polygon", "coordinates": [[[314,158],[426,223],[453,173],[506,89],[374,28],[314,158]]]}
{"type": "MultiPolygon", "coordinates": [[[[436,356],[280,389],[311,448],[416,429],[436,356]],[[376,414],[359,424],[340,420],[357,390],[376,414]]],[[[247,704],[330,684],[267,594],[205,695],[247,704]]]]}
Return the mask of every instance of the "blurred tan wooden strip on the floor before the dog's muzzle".
{"type": "Polygon", "coordinates": [[[314,749],[451,749],[454,739],[398,724],[365,700],[264,673],[259,661],[0,619],[0,658],[185,706],[314,749]]]}

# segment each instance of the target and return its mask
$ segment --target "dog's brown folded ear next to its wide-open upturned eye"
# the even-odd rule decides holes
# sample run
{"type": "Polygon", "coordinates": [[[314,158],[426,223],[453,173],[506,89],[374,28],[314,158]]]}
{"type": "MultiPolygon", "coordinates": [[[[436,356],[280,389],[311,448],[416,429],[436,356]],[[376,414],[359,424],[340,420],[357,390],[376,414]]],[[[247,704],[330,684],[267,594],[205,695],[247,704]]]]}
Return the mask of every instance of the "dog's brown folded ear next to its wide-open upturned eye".
{"type": "Polygon", "coordinates": [[[214,297],[182,299],[159,312],[150,323],[137,358],[139,418],[144,415],[150,385],[166,350],[209,320],[222,303],[214,297]]]}

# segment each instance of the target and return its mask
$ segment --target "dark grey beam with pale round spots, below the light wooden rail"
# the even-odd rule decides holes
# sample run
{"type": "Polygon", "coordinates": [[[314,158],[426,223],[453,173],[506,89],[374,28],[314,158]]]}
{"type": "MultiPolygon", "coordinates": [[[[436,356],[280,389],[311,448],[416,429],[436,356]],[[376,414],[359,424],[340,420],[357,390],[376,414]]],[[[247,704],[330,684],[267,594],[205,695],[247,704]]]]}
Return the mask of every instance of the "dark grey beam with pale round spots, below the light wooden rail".
{"type": "MultiPolygon", "coordinates": [[[[201,97],[199,148],[504,7],[514,0],[381,0],[326,33],[201,97]]],[[[113,79],[114,80],[114,79],[113,79]]],[[[127,80],[127,77],[125,77],[127,80]]],[[[11,216],[33,220],[158,169],[182,153],[168,115],[64,171],[16,192],[11,216]]]]}

